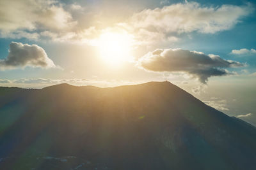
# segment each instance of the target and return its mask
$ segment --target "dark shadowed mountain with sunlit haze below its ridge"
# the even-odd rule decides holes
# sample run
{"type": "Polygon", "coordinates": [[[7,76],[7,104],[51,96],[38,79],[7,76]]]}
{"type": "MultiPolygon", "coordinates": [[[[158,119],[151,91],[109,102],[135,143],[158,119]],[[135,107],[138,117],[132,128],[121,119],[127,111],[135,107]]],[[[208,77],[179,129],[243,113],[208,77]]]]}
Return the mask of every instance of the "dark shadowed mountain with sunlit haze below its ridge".
{"type": "Polygon", "coordinates": [[[255,166],[255,127],[168,81],[0,88],[0,169],[255,166]]]}

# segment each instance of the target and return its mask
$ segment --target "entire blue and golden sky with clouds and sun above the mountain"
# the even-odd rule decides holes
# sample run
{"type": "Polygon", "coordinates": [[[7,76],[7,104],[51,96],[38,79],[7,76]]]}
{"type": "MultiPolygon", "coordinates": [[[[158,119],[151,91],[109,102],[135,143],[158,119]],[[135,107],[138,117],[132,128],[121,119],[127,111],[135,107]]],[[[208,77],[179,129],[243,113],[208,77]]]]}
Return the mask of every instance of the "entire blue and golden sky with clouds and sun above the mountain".
{"type": "Polygon", "coordinates": [[[0,86],[167,80],[256,125],[255,4],[1,0],[0,86]]]}

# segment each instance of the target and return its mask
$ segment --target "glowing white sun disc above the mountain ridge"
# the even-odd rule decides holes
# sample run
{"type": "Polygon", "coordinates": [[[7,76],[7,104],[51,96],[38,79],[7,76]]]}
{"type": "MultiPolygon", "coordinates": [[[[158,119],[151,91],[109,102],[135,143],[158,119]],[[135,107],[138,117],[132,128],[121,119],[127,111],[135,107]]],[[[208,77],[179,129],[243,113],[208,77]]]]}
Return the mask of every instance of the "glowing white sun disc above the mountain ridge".
{"type": "Polygon", "coordinates": [[[104,32],[99,37],[100,57],[110,66],[132,60],[132,36],[126,32],[104,32]]]}

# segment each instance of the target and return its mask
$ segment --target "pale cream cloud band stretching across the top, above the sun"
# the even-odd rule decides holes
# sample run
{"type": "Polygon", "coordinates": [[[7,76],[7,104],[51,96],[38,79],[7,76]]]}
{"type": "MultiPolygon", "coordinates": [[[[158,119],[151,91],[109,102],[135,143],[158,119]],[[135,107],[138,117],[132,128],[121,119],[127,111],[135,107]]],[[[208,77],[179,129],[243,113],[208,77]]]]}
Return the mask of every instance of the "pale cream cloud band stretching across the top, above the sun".
{"type": "Polygon", "coordinates": [[[254,9],[250,3],[243,6],[223,4],[214,7],[186,2],[153,10],[146,9],[124,18],[122,23],[116,20],[109,25],[100,25],[106,22],[102,22],[104,18],[97,18],[97,13],[93,15],[94,11],[78,15],[77,10],[83,8],[76,3],[68,5],[52,0],[2,0],[0,13],[4,15],[0,17],[0,37],[49,38],[54,41],[91,45],[104,30],[117,29],[133,34],[138,41],[136,45],[145,45],[163,40],[177,41],[176,33],[181,32],[212,34],[232,29],[254,9]],[[81,18],[94,24],[84,25],[81,18]],[[93,22],[95,20],[97,24],[93,22]],[[174,34],[170,35],[172,33],[174,34]]]}

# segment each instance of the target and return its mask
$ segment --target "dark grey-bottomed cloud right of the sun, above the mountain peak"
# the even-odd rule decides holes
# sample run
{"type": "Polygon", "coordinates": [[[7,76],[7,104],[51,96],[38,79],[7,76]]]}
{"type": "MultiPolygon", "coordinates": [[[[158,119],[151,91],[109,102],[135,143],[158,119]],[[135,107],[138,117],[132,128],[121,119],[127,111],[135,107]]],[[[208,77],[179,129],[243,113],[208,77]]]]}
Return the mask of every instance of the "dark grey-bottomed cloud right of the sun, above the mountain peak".
{"type": "Polygon", "coordinates": [[[169,48],[148,52],[138,60],[138,66],[148,71],[184,72],[196,76],[202,83],[207,83],[211,76],[232,74],[223,68],[242,67],[245,64],[221,59],[218,55],[169,48]]]}

